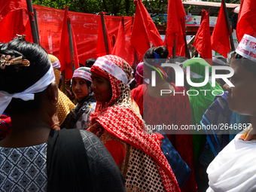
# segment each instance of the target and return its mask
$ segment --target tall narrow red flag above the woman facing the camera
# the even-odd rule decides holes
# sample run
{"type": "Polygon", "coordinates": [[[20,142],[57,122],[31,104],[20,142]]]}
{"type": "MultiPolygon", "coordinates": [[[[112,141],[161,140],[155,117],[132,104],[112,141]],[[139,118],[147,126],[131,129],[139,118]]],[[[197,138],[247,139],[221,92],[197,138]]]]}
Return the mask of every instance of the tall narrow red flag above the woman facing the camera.
{"type": "MultiPolygon", "coordinates": [[[[66,8],[69,8],[69,7],[66,6],[66,8]]],[[[75,44],[75,36],[74,36],[72,25],[71,25],[71,29],[72,29],[72,41],[73,41],[73,50],[74,50],[72,55],[74,59],[71,59],[71,55],[70,55],[69,29],[68,29],[67,20],[69,20],[70,23],[71,23],[71,20],[69,18],[69,14],[66,8],[65,8],[65,14],[64,14],[63,24],[62,24],[62,33],[61,33],[60,46],[59,46],[59,62],[61,65],[60,71],[62,72],[63,70],[65,70],[66,78],[72,79],[72,76],[73,76],[72,62],[75,62],[75,69],[78,69],[79,61],[78,61],[78,51],[75,44]]]]}

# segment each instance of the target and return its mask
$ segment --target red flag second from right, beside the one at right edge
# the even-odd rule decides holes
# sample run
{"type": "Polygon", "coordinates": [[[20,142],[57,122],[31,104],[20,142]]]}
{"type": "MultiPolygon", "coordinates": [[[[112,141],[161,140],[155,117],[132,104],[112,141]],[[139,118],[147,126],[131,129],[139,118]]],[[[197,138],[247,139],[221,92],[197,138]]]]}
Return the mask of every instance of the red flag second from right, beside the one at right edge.
{"type": "Polygon", "coordinates": [[[227,53],[230,52],[230,32],[228,32],[226,18],[224,14],[223,4],[221,3],[221,9],[218,14],[218,20],[215,25],[215,29],[212,32],[212,50],[220,53],[227,58],[227,53]]]}

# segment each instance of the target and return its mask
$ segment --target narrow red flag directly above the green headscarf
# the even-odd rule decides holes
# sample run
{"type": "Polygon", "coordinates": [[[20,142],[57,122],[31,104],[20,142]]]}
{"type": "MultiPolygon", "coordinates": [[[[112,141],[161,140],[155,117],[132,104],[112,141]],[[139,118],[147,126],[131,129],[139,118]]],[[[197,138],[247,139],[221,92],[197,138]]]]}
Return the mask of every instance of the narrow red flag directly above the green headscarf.
{"type": "MultiPolygon", "coordinates": [[[[194,47],[203,59],[212,59],[211,33],[209,26],[209,13],[202,10],[201,24],[197,31],[194,47]]],[[[212,63],[209,63],[212,65],[212,63]]]]}

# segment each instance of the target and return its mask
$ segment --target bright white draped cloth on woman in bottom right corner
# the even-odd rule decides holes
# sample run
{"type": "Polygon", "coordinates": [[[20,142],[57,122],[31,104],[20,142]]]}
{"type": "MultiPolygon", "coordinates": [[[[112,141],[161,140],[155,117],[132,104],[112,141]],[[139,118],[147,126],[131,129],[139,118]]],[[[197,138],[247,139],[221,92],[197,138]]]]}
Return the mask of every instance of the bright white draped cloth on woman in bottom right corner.
{"type": "Polygon", "coordinates": [[[256,191],[256,141],[239,139],[244,132],[236,135],[209,164],[206,192],[256,191]]]}

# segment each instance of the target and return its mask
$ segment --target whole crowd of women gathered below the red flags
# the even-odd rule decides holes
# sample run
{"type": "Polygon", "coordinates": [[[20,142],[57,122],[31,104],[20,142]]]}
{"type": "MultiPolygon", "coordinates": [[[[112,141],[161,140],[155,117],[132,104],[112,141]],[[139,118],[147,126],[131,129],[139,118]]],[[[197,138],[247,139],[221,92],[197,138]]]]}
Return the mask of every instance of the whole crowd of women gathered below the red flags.
{"type": "Polygon", "coordinates": [[[23,38],[0,44],[0,190],[255,191],[256,49],[239,47],[251,53],[211,59],[233,72],[215,86],[206,59],[170,59],[164,46],[134,69],[119,56],[88,59],[70,100],[56,56],[23,38]]]}

